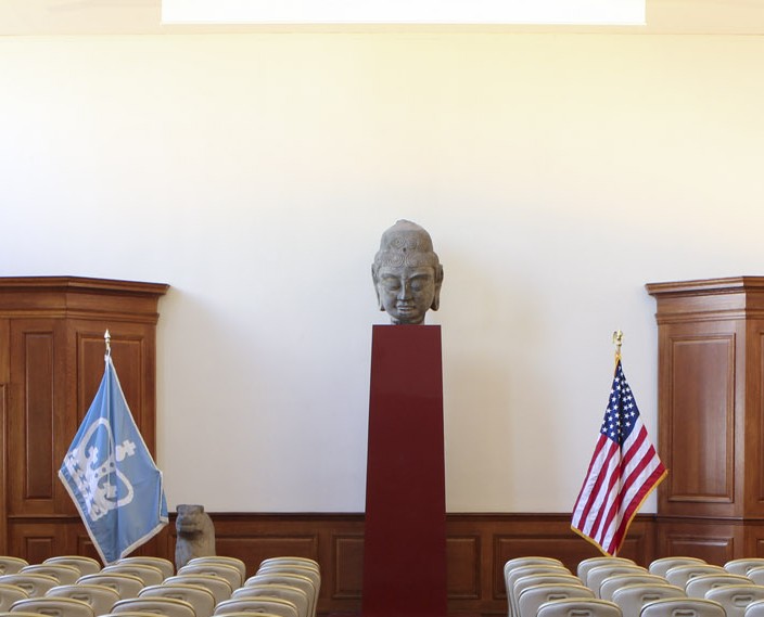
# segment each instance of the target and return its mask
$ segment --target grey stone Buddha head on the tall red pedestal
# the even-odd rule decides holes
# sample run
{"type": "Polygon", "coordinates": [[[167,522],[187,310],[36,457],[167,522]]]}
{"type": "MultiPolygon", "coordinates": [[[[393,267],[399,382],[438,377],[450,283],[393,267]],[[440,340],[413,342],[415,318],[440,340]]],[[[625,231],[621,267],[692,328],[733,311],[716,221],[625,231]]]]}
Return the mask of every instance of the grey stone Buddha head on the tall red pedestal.
{"type": "Polygon", "coordinates": [[[399,220],[382,234],[371,266],[380,310],[394,325],[420,324],[441,301],[443,266],[430,234],[420,226],[399,220]]]}

